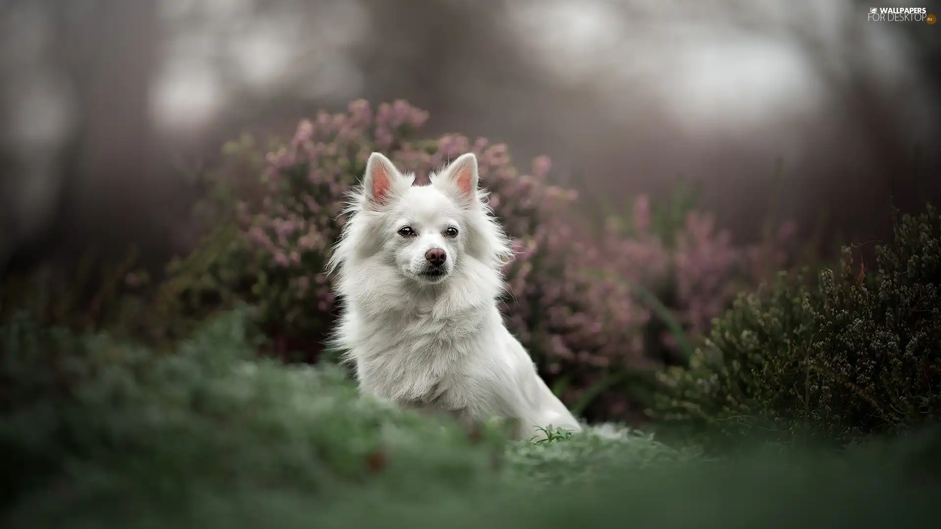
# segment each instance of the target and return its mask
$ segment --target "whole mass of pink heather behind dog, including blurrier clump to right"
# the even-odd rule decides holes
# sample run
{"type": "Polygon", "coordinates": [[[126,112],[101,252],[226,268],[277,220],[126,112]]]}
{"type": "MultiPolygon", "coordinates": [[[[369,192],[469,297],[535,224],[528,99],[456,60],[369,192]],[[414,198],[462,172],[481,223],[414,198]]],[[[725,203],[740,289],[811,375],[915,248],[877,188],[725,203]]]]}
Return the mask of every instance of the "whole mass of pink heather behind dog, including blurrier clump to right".
{"type": "Polygon", "coordinates": [[[295,136],[266,154],[249,137],[228,145],[226,167],[212,177],[200,210],[208,235],[172,264],[157,303],[165,316],[154,321],[179,322],[180,329],[164,329],[179,335],[190,322],[244,300],[257,307],[273,354],[323,358],[337,312],[324,268],[343,228],[343,200],[369,154],[384,152],[424,179],[475,152],[489,204],[515,241],[516,258],[504,270],[509,328],[577,412],[636,416],[640,410],[614,391],[623,384],[612,381],[656,367],[662,355],[652,342],[688,354],[691,337],[708,329],[736,285],[751,281],[749,249],[732,245],[709,215],[690,211],[690,200],[664,212],[639,197],[627,218],[589,229],[572,207],[576,193],[549,183],[549,158],[537,157],[523,171],[506,146],[485,138],[424,139],[427,118],[401,101],[375,110],[358,101],[345,113],[301,121],[295,136]],[[664,306],[664,290],[675,291],[676,302],[664,306]],[[667,331],[648,336],[645,329],[663,319],[667,331]]]}

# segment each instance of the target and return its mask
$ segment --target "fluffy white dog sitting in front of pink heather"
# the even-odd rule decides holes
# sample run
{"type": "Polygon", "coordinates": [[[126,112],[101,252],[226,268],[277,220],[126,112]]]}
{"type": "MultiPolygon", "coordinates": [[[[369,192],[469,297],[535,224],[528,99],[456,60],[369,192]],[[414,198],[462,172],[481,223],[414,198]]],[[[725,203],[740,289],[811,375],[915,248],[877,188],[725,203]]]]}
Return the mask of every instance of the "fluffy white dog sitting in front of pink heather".
{"type": "Polygon", "coordinates": [[[477,158],[459,156],[428,185],[414,178],[372,153],[327,267],[343,300],[335,344],[361,390],[465,421],[516,420],[525,437],[581,430],[503,324],[497,297],[512,250],[478,188],[477,158]],[[437,268],[433,248],[446,255],[437,268]]]}

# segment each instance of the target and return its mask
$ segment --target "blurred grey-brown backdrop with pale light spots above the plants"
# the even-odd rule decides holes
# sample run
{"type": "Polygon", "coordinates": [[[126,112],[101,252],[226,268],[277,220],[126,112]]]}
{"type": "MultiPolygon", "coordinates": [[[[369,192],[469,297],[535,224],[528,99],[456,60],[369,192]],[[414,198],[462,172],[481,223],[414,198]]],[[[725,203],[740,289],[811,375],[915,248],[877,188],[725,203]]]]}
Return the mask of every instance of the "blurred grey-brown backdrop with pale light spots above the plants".
{"type": "MultiPolygon", "coordinates": [[[[884,0],[884,6],[902,6],[884,0]]],[[[921,3],[938,12],[936,2],[921,3]]],[[[0,259],[193,244],[195,175],[243,131],[290,136],[403,98],[432,135],[548,154],[583,202],[678,178],[734,237],[884,237],[941,197],[941,26],[849,0],[2,0],[0,259]]]]}

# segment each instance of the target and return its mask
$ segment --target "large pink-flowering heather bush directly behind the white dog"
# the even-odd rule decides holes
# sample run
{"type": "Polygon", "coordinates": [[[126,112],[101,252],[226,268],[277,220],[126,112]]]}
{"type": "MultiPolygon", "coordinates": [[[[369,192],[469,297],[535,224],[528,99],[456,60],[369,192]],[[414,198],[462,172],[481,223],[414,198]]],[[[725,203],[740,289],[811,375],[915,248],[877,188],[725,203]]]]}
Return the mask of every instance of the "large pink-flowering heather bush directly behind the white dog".
{"type": "Polygon", "coordinates": [[[261,194],[244,200],[226,189],[231,174],[216,178],[208,208],[216,223],[196,252],[173,264],[164,293],[172,308],[167,313],[204,315],[242,299],[258,308],[276,354],[318,358],[336,315],[325,264],[343,227],[345,194],[359,182],[370,152],[385,152],[424,178],[470,151],[478,156],[489,204],[518,252],[505,270],[510,288],[502,308],[540,367],[550,377],[565,372],[574,382],[571,391],[578,392],[600,373],[640,365],[637,329],[646,311],[618,281],[613,262],[566,217],[575,194],[547,184],[548,158],[535,159],[532,170],[521,173],[505,146],[486,139],[420,139],[426,119],[404,102],[375,112],[355,102],[347,113],[302,121],[263,164],[247,139],[229,146],[231,156],[246,160],[243,168],[259,169],[261,194]],[[590,273],[595,269],[611,273],[590,273]]]}

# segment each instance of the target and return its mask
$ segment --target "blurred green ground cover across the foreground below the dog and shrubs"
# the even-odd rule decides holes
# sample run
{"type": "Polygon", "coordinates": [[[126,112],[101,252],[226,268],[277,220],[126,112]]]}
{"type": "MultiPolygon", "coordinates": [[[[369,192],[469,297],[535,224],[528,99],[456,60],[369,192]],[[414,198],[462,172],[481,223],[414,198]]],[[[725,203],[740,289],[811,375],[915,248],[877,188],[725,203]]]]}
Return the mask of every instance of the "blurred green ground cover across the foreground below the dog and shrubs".
{"type": "Polygon", "coordinates": [[[0,330],[0,525],[913,527],[938,437],[707,457],[602,425],[507,441],[255,358],[245,319],[172,354],[19,319],[0,330]]]}

